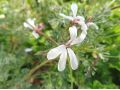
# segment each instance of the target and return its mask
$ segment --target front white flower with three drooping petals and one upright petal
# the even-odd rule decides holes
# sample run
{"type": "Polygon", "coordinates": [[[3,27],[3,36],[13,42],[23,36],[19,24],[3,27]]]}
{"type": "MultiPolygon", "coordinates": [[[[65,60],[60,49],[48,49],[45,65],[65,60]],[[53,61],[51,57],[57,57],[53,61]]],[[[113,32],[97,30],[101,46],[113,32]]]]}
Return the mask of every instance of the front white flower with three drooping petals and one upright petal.
{"type": "Polygon", "coordinates": [[[60,45],[56,48],[51,49],[47,53],[48,60],[55,59],[60,55],[60,59],[58,62],[58,70],[63,71],[66,66],[66,60],[67,60],[67,54],[70,58],[70,65],[73,70],[76,70],[78,68],[78,60],[74,53],[74,51],[69,47],[70,44],[76,39],[77,37],[77,29],[75,26],[72,26],[69,28],[70,32],[70,40],[66,43],[66,45],[60,45]]]}

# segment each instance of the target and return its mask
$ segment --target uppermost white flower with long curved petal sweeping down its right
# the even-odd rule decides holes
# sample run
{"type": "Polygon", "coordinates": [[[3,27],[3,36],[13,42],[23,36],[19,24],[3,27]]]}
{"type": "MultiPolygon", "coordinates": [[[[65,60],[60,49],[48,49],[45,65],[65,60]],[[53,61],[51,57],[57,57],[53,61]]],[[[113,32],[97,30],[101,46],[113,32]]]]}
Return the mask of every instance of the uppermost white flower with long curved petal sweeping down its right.
{"type": "Polygon", "coordinates": [[[82,16],[76,16],[77,10],[78,10],[77,4],[73,3],[71,5],[71,10],[72,10],[73,16],[66,16],[62,13],[60,13],[60,16],[64,17],[65,19],[68,19],[70,21],[73,21],[74,23],[77,23],[81,26],[81,30],[82,30],[81,34],[76,39],[73,40],[71,45],[80,44],[86,38],[88,28],[90,26],[94,26],[95,29],[98,29],[98,26],[93,22],[86,23],[85,18],[82,16]]]}

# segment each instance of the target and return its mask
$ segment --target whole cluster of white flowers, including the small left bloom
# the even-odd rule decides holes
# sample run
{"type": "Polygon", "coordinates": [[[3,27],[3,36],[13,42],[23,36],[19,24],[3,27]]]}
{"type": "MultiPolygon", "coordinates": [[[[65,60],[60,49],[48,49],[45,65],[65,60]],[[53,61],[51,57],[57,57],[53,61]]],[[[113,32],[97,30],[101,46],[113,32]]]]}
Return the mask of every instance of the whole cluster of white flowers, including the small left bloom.
{"type": "MultiPolygon", "coordinates": [[[[58,62],[58,70],[63,71],[66,66],[66,60],[67,60],[67,54],[70,59],[70,65],[73,70],[76,70],[78,68],[78,60],[74,53],[74,51],[71,49],[72,45],[79,45],[81,42],[84,41],[87,30],[89,26],[94,26],[96,29],[98,29],[98,26],[93,22],[86,22],[85,18],[83,16],[77,16],[77,10],[78,6],[77,4],[73,3],[71,5],[71,10],[73,13],[73,16],[66,16],[62,13],[60,13],[60,16],[64,17],[65,19],[70,20],[73,23],[73,26],[69,27],[69,33],[70,33],[70,40],[67,41],[67,43],[59,45],[58,47],[55,47],[51,49],[47,53],[48,60],[53,60],[60,56],[59,62],[58,62]],[[78,24],[81,27],[81,34],[77,35],[78,29],[76,27],[76,24],[78,24]]],[[[25,27],[28,27],[33,30],[32,34],[35,36],[35,38],[39,37],[39,34],[37,33],[37,28],[34,24],[34,20],[28,19],[27,22],[24,23],[25,27]]],[[[43,27],[41,25],[39,30],[42,30],[43,27]]]]}

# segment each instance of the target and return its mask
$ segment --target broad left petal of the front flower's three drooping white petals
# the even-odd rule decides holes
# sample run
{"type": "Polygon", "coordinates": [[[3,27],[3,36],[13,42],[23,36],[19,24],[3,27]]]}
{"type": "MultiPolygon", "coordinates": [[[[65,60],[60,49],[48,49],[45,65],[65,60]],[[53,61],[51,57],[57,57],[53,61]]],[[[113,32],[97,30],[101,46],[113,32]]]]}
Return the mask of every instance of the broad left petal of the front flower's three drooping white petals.
{"type": "Polygon", "coordinates": [[[62,52],[64,52],[65,46],[64,45],[60,45],[56,48],[51,49],[48,53],[47,53],[47,58],[48,60],[54,59],[56,58],[58,55],[60,55],[62,52]]]}

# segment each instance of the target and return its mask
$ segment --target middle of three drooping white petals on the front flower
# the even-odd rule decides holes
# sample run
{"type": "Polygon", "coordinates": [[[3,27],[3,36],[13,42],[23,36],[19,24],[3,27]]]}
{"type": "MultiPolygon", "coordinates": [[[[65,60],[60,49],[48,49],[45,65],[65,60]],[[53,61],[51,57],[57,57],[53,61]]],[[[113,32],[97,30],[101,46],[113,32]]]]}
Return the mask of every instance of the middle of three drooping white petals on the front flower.
{"type": "Polygon", "coordinates": [[[60,59],[58,62],[58,71],[63,71],[65,69],[66,60],[67,60],[67,50],[66,48],[64,48],[63,53],[60,55],[60,59]]]}

